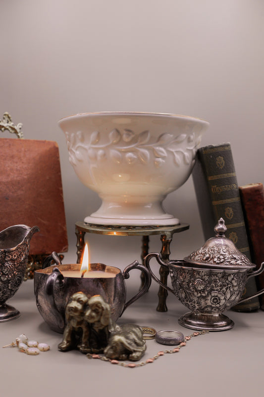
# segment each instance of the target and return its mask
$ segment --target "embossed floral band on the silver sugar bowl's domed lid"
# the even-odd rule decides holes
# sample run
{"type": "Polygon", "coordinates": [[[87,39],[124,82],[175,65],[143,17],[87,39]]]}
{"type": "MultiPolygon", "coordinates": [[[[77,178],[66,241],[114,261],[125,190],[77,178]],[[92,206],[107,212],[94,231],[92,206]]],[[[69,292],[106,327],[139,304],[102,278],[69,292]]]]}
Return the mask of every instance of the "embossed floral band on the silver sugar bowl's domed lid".
{"type": "Polygon", "coordinates": [[[202,247],[188,257],[191,261],[203,262],[211,265],[249,266],[252,264],[248,258],[231,250],[228,246],[202,247]]]}

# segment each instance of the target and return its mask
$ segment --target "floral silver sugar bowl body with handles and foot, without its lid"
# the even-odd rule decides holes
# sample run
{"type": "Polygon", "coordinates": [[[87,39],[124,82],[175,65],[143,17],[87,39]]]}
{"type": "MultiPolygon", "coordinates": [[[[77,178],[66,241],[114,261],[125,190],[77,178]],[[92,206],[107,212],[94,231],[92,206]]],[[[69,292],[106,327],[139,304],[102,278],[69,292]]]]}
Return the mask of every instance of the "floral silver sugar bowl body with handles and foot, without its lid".
{"type": "MultiPolygon", "coordinates": [[[[185,261],[163,262],[158,253],[149,254],[145,265],[159,285],[172,292],[183,305],[191,310],[188,316],[179,319],[180,325],[208,331],[224,331],[234,323],[222,312],[229,310],[240,301],[249,277],[260,274],[264,263],[256,271],[248,269],[214,269],[193,267],[185,261]],[[169,270],[172,288],[162,284],[150,268],[151,258],[169,270]]],[[[264,291],[260,291],[259,294],[264,291]]],[[[248,298],[250,299],[250,297],[248,298]]]]}

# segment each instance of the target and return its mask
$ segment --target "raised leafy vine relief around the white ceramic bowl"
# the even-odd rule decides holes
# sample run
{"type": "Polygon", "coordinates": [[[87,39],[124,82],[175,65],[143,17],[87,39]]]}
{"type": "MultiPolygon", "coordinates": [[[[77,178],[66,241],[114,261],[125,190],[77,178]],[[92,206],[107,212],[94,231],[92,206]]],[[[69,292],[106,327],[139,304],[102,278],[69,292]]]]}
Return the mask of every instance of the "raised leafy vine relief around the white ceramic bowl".
{"type": "Polygon", "coordinates": [[[179,167],[182,163],[191,164],[201,142],[200,137],[195,139],[194,133],[181,133],[176,136],[170,133],[161,133],[156,142],[151,143],[150,131],[135,133],[128,129],[112,130],[108,133],[106,143],[101,142],[99,131],[93,132],[90,141],[85,143],[82,132],[76,134],[66,132],[66,137],[69,161],[72,165],[76,165],[76,160],[82,161],[83,153],[86,152],[90,161],[110,159],[115,163],[125,161],[127,164],[136,162],[147,164],[154,161],[155,166],[160,167],[170,153],[173,155],[174,164],[179,167]],[[187,143],[185,150],[180,146],[184,141],[187,143]]]}

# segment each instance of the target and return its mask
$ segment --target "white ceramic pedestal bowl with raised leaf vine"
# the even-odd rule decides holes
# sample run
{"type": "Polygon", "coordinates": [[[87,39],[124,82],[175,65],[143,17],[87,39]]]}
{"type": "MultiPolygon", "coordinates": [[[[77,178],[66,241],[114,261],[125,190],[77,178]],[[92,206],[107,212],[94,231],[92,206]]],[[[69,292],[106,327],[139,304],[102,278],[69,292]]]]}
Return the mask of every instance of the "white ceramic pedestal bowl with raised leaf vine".
{"type": "Polygon", "coordinates": [[[101,112],[59,121],[80,181],[97,192],[101,207],[87,223],[176,225],[162,201],[189,178],[209,123],[187,116],[101,112]]]}

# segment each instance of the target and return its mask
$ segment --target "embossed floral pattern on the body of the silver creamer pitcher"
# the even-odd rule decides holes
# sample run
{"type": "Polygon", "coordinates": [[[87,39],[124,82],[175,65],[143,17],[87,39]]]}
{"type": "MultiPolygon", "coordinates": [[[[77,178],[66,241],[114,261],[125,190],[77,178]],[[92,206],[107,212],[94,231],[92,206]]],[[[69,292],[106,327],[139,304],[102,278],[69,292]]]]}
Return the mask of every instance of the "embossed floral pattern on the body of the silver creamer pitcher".
{"type": "Polygon", "coordinates": [[[27,265],[29,243],[0,252],[0,305],[11,298],[23,281],[27,265]]]}

